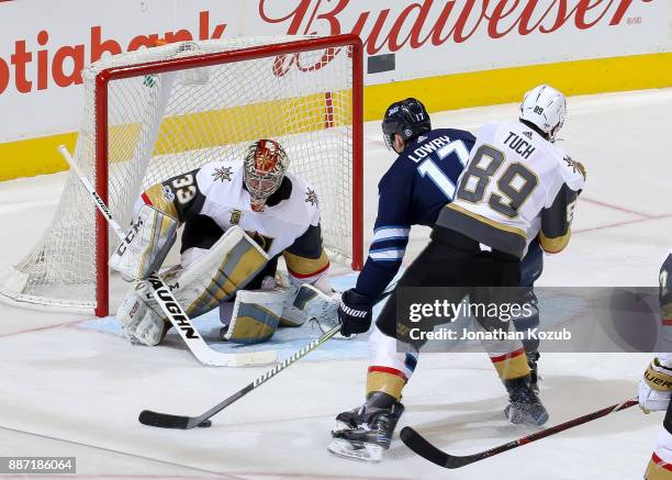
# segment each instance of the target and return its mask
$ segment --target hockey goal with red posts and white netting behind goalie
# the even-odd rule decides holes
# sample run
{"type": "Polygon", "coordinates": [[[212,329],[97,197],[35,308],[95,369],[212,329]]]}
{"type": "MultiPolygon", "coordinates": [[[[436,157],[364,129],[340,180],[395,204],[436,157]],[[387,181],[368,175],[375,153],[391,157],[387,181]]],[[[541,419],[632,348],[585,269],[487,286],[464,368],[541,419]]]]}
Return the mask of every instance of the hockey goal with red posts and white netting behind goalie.
{"type": "MultiPolygon", "coordinates": [[[[101,59],[82,71],[75,161],[124,226],[148,187],[277,139],[317,194],[325,247],[361,269],[362,55],[348,34],[180,42],[101,59]]],[[[70,172],[41,241],[0,272],[0,297],[108,315],[111,239],[70,172]]]]}

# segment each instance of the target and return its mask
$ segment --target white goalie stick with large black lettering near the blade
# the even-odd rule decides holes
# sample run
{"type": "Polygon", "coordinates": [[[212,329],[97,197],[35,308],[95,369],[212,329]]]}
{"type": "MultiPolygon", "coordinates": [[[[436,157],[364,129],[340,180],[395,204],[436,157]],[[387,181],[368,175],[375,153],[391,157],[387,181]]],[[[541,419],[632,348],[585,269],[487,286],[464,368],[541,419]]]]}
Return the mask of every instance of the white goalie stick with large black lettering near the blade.
{"type": "MultiPolygon", "coordinates": [[[[105,202],[100,198],[89,179],[83,175],[79,166],[75,164],[70,153],[60,145],[58,152],[65,160],[68,163],[75,175],[79,177],[79,181],[87,189],[91,196],[91,201],[96,204],[100,213],[105,217],[116,236],[121,242],[126,242],[126,234],[121,228],[119,223],[114,220],[110,210],[105,205],[105,202]]],[[[245,354],[224,354],[221,351],[213,350],[208,346],[205,341],[199,335],[194,328],[189,315],[182,309],[182,305],[175,299],[170,289],[164,280],[155,272],[147,277],[147,283],[152,288],[152,293],[156,299],[156,302],[164,311],[164,314],[168,317],[175,330],[178,331],[187,347],[193,356],[204,365],[212,367],[243,367],[246,365],[266,365],[276,361],[277,351],[249,351],[245,354]]]]}

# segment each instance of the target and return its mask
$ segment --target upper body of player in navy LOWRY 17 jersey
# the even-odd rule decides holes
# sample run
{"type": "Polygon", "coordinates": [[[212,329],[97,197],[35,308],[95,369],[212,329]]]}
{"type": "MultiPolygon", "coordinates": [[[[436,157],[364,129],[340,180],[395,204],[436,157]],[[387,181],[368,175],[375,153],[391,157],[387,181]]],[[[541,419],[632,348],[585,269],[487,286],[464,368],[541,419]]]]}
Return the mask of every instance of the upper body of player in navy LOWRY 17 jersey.
{"type": "MultiPolygon", "coordinates": [[[[412,98],[390,105],[382,131],[385,144],[399,157],[378,183],[369,257],[357,287],[345,292],[344,305],[371,303],[384,291],[401,267],[411,226],[434,226],[441,208],[452,200],[474,142],[462,130],[432,130],[425,107],[412,98]]],[[[344,325],[344,335],[359,333],[350,327],[344,325]]]]}

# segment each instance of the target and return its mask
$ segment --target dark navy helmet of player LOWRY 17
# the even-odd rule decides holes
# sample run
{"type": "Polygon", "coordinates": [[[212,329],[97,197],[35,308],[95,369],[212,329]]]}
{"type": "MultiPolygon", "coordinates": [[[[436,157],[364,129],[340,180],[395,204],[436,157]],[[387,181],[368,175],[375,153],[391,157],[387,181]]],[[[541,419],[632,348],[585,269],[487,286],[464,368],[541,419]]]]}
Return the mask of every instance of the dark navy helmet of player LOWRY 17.
{"type": "Polygon", "coordinates": [[[383,137],[388,148],[392,148],[395,133],[399,133],[407,143],[430,130],[432,122],[425,105],[414,98],[407,98],[388,107],[382,122],[383,137]]]}

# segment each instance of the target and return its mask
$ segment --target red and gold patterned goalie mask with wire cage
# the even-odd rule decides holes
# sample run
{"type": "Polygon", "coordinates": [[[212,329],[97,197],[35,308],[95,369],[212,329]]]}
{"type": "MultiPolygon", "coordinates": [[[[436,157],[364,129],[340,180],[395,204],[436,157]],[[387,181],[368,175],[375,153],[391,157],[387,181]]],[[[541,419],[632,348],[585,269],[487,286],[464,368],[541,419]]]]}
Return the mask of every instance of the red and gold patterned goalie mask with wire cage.
{"type": "Polygon", "coordinates": [[[253,210],[260,212],[266,200],[280,188],[289,158],[278,142],[260,139],[247,148],[244,167],[245,186],[251,197],[253,210]]]}

